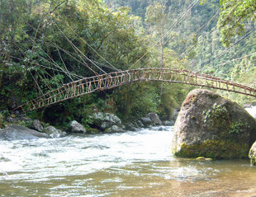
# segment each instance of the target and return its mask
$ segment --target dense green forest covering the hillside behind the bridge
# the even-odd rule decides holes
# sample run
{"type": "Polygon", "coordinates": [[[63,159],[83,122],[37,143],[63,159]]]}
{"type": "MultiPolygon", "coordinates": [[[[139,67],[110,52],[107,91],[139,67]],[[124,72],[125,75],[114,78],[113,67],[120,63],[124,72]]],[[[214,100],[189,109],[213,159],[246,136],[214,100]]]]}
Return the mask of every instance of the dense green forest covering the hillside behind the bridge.
{"type": "MultiPolygon", "coordinates": [[[[254,0],[0,0],[0,110],[64,83],[130,68],[182,68],[256,87],[254,0]]],[[[194,87],[134,83],[33,111],[52,124],[109,111],[168,120],[194,87]]],[[[255,99],[221,94],[241,104],[255,99]]]]}

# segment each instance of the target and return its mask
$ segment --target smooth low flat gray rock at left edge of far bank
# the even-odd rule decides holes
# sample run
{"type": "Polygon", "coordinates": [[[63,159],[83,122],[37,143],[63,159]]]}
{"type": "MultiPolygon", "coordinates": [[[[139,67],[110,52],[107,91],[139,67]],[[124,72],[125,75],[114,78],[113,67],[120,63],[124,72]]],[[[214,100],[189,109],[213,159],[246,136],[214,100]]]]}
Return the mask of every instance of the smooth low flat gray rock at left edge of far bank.
{"type": "Polygon", "coordinates": [[[49,138],[49,135],[15,124],[8,126],[6,129],[0,130],[1,140],[18,140],[31,138],[49,138]]]}

